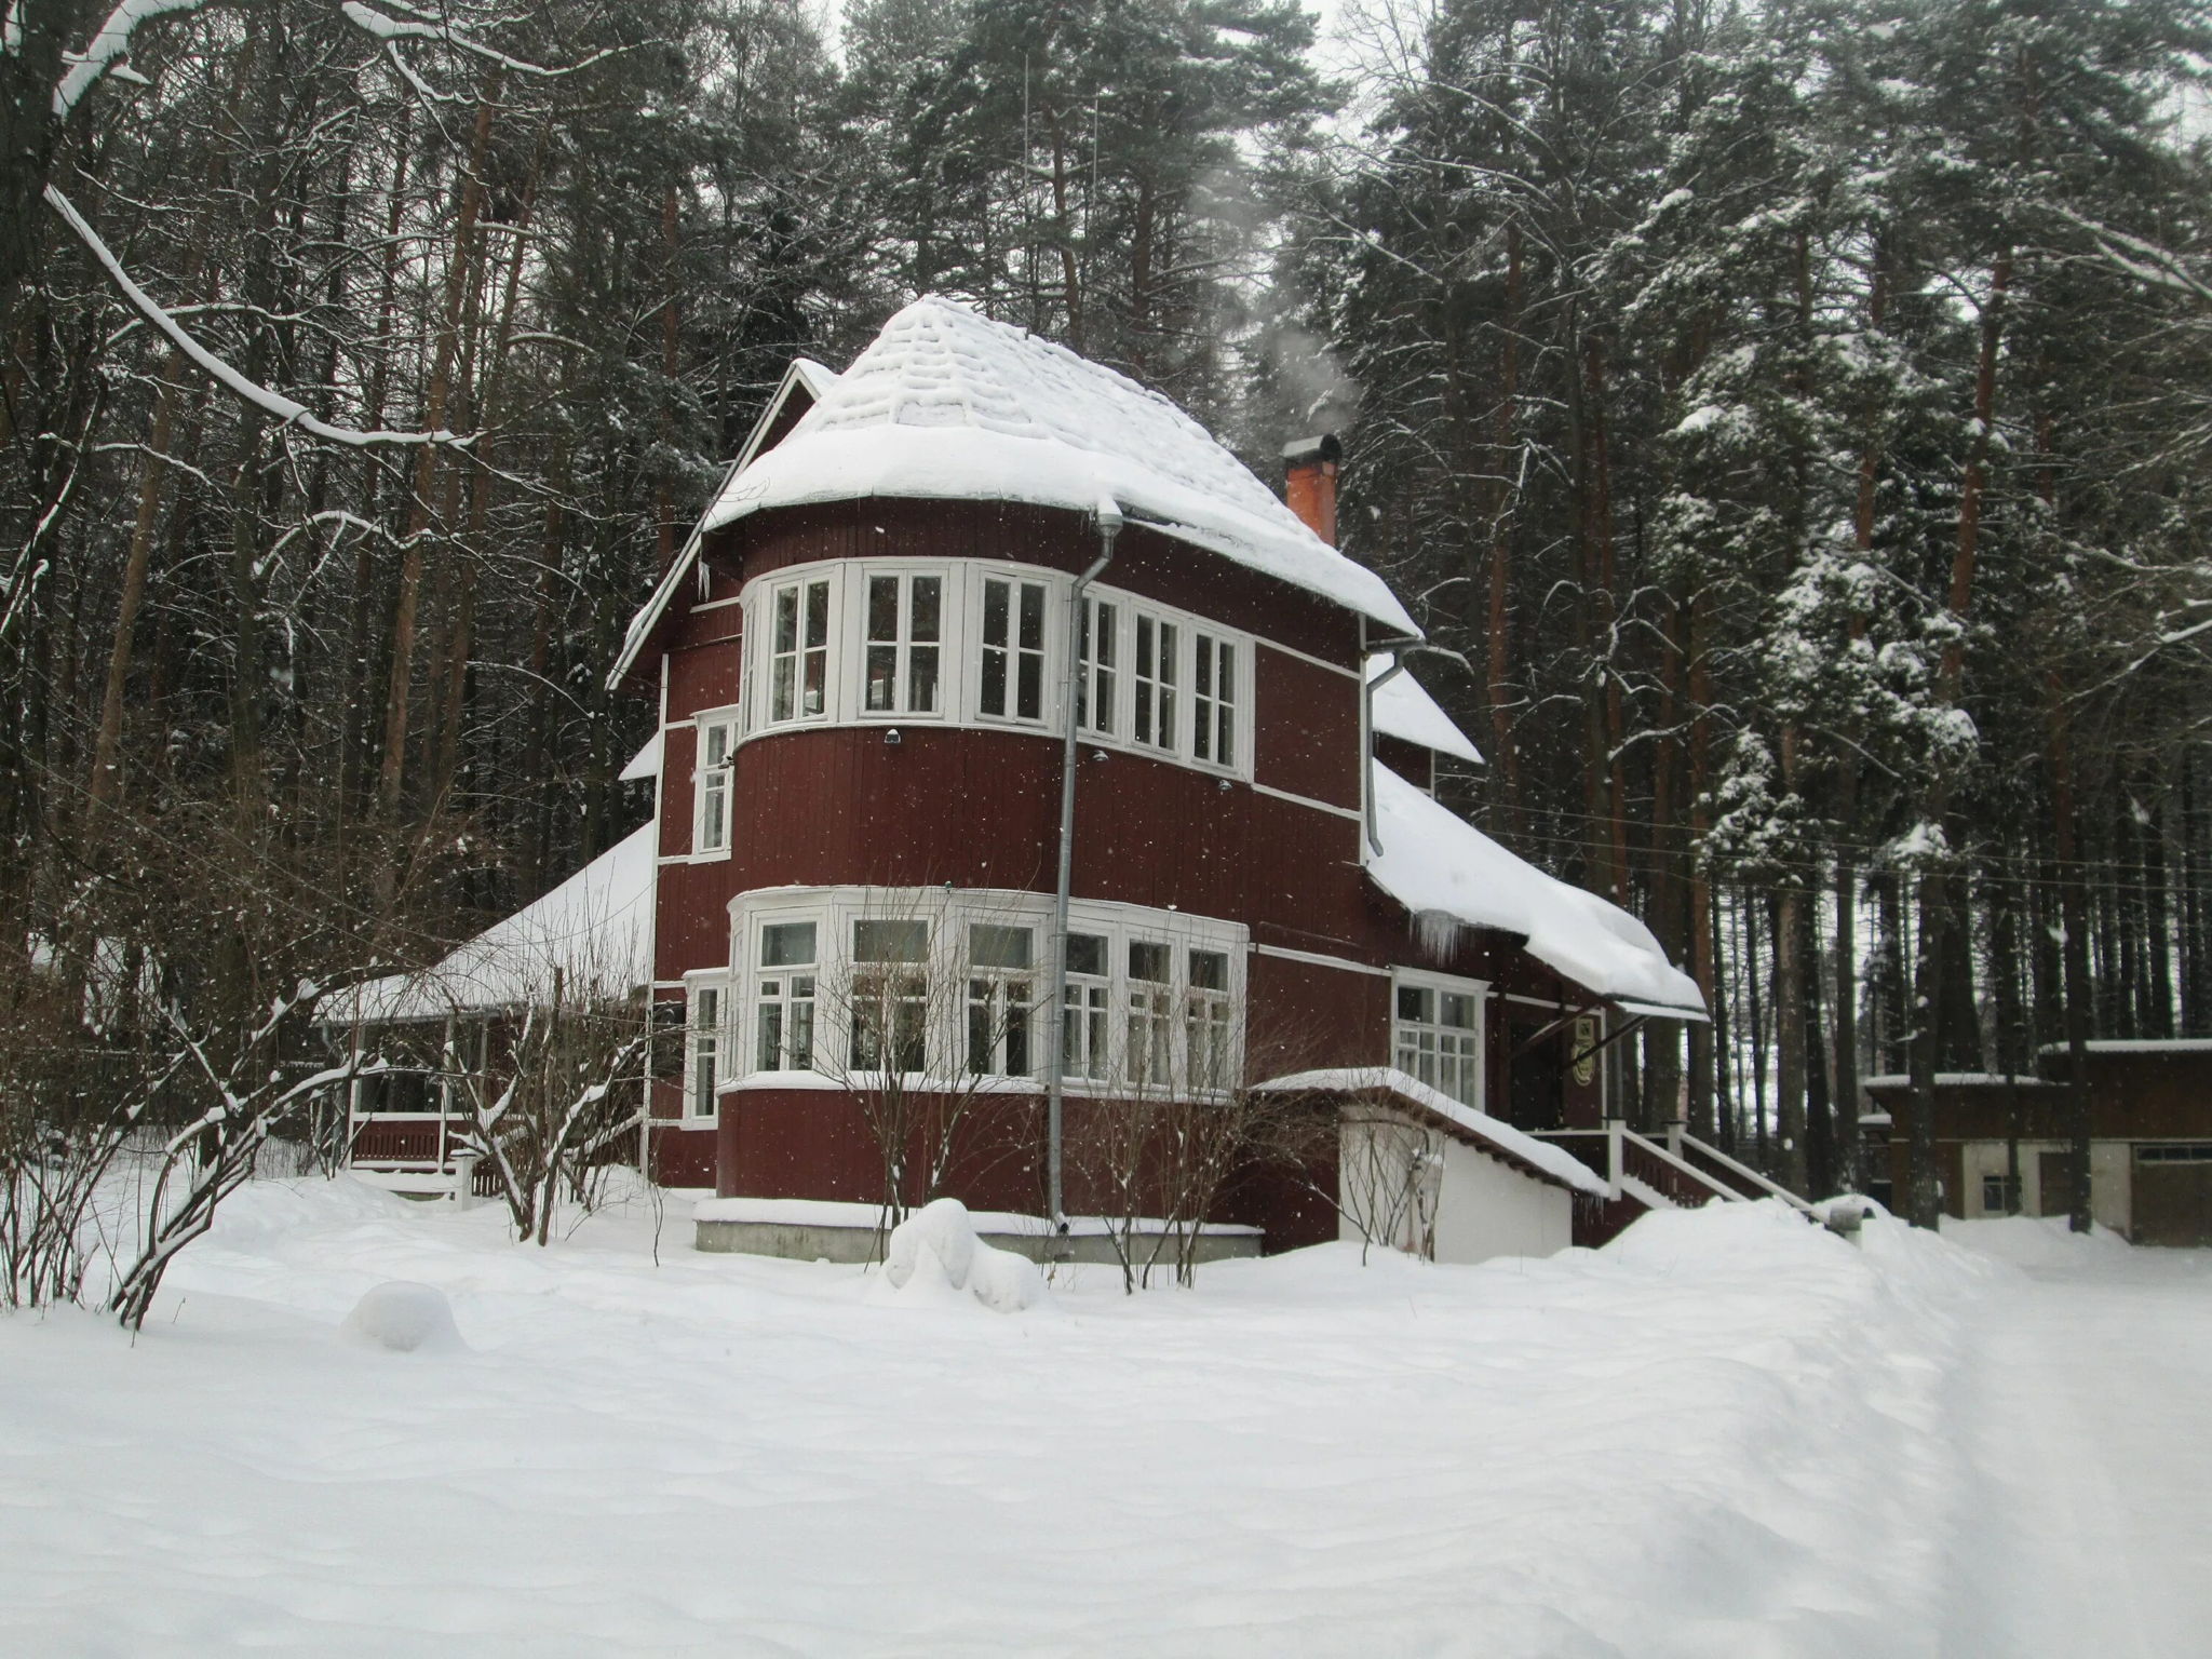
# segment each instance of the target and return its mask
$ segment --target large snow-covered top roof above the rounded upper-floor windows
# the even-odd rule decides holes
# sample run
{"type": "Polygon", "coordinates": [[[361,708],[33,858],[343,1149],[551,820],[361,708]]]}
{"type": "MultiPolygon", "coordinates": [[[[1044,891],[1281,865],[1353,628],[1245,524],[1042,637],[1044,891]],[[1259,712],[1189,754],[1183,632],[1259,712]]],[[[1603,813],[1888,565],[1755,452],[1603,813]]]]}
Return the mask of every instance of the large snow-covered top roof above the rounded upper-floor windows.
{"type": "Polygon", "coordinates": [[[1314,535],[1168,398],[933,294],[885,323],[792,434],[723,484],[701,529],[865,495],[1079,513],[1110,498],[1166,535],[1420,637],[1383,577],[1314,535]]]}

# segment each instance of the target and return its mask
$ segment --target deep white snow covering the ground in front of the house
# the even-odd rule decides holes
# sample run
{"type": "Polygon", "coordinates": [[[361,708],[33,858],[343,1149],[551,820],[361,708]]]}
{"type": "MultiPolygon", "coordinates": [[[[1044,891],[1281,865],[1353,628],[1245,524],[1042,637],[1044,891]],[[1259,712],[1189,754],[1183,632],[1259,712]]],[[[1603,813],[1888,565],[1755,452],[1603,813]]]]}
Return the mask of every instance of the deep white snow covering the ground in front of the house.
{"type": "Polygon", "coordinates": [[[681,1206],[655,1265],[644,1203],[540,1252],[257,1183],[137,1343],[0,1316],[0,1652],[2201,1650],[2212,1274],[2024,1225],[1734,1206],[998,1314],[681,1206]],[[347,1329],[387,1281],[460,1343],[347,1329]]]}

